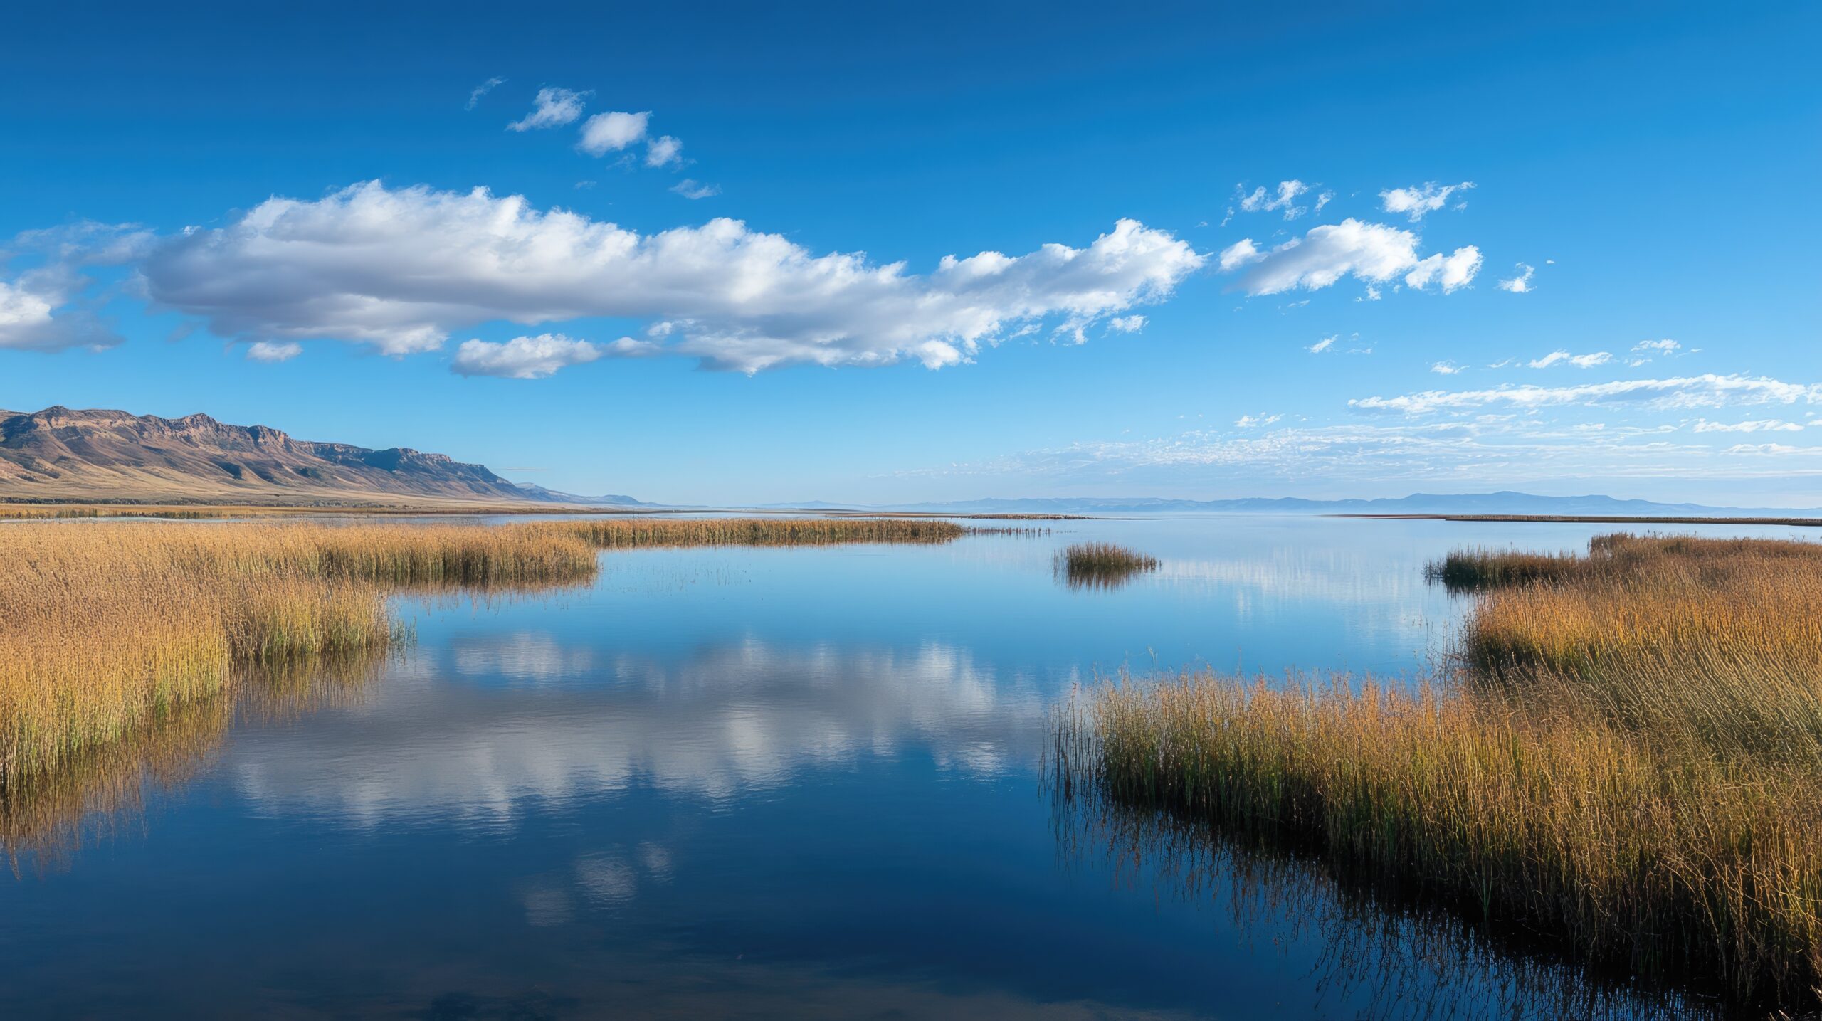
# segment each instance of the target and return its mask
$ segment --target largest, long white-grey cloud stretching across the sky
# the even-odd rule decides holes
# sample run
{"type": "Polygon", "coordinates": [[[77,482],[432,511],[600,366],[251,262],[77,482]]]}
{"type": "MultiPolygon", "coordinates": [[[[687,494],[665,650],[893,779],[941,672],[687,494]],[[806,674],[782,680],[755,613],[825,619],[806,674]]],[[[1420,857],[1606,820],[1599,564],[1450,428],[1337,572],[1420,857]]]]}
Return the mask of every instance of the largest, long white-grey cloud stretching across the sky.
{"type": "Polygon", "coordinates": [[[1086,248],[946,257],[927,275],[865,253],[813,255],[740,220],[652,235],[541,211],[523,197],[379,182],[268,198],[222,227],[162,238],[140,262],[159,306],[220,337],[339,339],[388,355],[481,322],[630,317],[709,368],[955,364],[1004,329],[1082,329],[1161,300],[1206,262],[1121,220],[1086,248]]]}

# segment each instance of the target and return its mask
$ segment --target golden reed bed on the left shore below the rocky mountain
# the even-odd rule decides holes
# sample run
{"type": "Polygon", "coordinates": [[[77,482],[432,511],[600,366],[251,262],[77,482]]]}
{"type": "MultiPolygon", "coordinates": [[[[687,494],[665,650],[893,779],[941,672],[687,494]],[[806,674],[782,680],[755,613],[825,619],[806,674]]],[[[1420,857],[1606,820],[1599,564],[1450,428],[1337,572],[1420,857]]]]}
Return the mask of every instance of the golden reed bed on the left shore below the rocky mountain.
{"type": "Polygon", "coordinates": [[[585,582],[599,550],[944,542],[944,521],[20,522],[0,528],[0,799],[233,688],[241,666],[370,655],[386,595],[585,582]]]}

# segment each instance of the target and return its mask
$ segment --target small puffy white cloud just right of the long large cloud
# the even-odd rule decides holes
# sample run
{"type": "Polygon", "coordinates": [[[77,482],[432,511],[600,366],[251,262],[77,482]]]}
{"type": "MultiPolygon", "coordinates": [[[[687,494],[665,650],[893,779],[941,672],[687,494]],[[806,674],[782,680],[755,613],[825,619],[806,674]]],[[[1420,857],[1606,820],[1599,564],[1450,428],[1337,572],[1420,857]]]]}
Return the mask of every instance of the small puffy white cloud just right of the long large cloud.
{"type": "Polygon", "coordinates": [[[1479,271],[1481,253],[1476,246],[1458,248],[1452,255],[1419,257],[1419,244],[1412,231],[1350,217],[1339,224],[1312,227],[1305,237],[1270,251],[1261,251],[1252,238],[1241,238],[1221,251],[1219,266],[1226,273],[1246,268],[1237,286],[1254,297],[1294,288],[1315,291],[1348,275],[1368,286],[1397,277],[1418,289],[1438,282],[1448,293],[1472,282],[1479,271]]]}

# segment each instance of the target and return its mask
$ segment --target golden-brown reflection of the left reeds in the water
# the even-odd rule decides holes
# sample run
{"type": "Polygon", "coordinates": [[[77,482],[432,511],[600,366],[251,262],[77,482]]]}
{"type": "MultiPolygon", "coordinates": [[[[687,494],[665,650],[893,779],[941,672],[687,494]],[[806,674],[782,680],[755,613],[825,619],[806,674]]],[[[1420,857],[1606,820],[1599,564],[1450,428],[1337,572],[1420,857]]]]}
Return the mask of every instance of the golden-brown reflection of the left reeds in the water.
{"type": "Polygon", "coordinates": [[[206,768],[235,719],[281,723],[353,704],[384,659],[361,652],[237,666],[224,697],[180,703],[118,741],[67,755],[56,770],[13,777],[0,784],[0,850],[15,875],[56,868],[138,817],[149,794],[206,768]]]}

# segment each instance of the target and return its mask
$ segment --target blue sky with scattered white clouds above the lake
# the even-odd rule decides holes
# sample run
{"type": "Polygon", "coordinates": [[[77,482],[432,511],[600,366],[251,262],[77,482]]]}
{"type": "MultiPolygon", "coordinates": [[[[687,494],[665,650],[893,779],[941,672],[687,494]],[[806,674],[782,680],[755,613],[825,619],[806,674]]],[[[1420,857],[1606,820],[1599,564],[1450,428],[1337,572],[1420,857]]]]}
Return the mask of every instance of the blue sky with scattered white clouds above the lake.
{"type": "Polygon", "coordinates": [[[1822,504],[1822,7],[1263,7],[20,9],[0,408],[670,502],[1822,504]]]}

